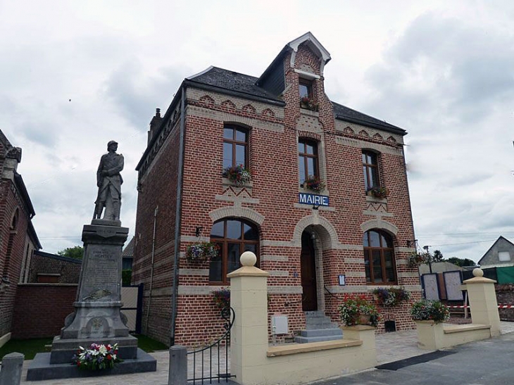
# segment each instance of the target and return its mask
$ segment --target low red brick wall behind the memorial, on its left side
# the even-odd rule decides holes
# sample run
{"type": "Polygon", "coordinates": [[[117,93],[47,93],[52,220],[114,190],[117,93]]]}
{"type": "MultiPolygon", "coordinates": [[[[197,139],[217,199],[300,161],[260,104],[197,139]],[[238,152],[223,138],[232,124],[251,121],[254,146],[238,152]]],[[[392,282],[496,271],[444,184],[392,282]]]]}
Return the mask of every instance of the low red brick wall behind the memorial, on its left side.
{"type": "Polygon", "coordinates": [[[18,284],[13,317],[13,339],[56,336],[65,317],[73,313],[77,285],[18,284]]]}

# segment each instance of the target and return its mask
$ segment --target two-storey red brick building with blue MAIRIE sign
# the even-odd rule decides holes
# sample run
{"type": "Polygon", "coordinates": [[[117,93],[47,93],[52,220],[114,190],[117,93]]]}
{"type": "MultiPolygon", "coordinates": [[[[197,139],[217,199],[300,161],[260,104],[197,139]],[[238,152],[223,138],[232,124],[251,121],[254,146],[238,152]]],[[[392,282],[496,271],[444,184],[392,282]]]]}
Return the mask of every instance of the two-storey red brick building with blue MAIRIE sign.
{"type": "MultiPolygon", "coordinates": [[[[401,285],[420,298],[407,264],[406,131],[330,101],[328,61],[308,32],[260,77],[210,67],[182,82],[163,116],[157,110],[137,165],[132,282],[144,283],[146,334],[188,346],[218,336],[213,291],[230,284],[245,250],[270,272],[269,313],[287,315],[290,332],[305,327],[308,310],[337,321],[344,294],[371,299],[377,286],[401,285]],[[237,165],[251,182],[222,175],[237,165]],[[370,195],[378,187],[389,195],[370,195]],[[218,258],[188,260],[200,241],[218,244],[218,258]]],[[[382,313],[401,330],[414,327],[409,310],[382,313]]]]}

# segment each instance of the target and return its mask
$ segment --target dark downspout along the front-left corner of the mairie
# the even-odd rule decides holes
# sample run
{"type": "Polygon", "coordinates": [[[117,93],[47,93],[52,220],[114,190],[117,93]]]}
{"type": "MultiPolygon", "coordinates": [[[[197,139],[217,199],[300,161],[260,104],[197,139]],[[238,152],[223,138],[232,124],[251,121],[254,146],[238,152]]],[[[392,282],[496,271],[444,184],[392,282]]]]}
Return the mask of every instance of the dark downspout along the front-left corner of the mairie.
{"type": "Polygon", "coordinates": [[[184,178],[184,131],[185,131],[185,104],[186,87],[182,87],[180,95],[180,144],[178,158],[178,180],[177,180],[177,206],[175,208],[175,263],[173,264],[173,294],[171,298],[171,333],[170,346],[175,345],[175,323],[177,321],[177,300],[178,300],[178,272],[180,261],[180,217],[182,215],[182,179],[184,178]]]}

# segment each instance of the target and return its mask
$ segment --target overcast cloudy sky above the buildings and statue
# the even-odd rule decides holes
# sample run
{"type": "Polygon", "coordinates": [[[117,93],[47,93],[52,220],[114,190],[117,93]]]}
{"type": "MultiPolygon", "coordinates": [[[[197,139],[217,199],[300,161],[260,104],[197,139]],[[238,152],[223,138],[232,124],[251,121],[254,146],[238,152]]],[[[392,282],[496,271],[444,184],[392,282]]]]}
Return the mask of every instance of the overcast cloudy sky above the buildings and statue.
{"type": "Polygon", "coordinates": [[[82,244],[106,144],[125,156],[122,222],[155,108],[209,65],[259,76],[311,31],[333,101],[408,131],[416,238],[479,260],[514,240],[514,1],[0,0],[0,130],[43,250],[82,244]]]}

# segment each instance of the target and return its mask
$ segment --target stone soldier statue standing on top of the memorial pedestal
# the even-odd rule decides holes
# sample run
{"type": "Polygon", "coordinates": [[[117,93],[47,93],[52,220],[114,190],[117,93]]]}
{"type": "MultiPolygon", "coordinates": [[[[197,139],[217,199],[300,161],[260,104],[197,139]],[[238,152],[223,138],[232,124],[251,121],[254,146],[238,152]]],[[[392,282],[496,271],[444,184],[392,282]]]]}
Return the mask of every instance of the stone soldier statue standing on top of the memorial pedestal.
{"type": "Polygon", "coordinates": [[[121,184],[123,179],[120,171],[123,170],[123,155],[116,153],[118,143],[111,140],[107,144],[108,153],[100,159],[96,171],[96,185],[98,196],[96,198],[93,219],[101,219],[105,208],[104,220],[120,220],[121,184]]]}

